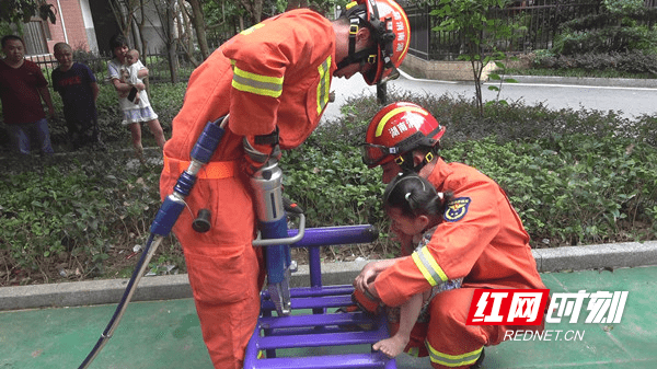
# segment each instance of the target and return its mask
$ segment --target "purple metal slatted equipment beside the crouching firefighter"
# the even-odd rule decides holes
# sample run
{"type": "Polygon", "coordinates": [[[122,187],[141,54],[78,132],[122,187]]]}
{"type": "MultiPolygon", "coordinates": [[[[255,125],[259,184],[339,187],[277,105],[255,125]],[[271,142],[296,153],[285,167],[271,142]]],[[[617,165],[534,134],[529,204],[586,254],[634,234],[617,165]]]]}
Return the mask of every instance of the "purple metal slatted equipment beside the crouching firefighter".
{"type": "MultiPolygon", "coordinates": [[[[288,230],[288,235],[299,232],[288,230]]],[[[246,347],[244,369],[396,368],[394,359],[371,349],[390,336],[385,316],[338,311],[354,304],[354,287],[322,285],[321,246],[367,243],[377,237],[369,224],[306,229],[290,246],[308,249],[310,287],[290,288],[292,313],[287,315],[273,315],[277,308],[269,291],[261,293],[261,316],[246,347]],[[324,355],[326,347],[346,353],[324,355]]]]}

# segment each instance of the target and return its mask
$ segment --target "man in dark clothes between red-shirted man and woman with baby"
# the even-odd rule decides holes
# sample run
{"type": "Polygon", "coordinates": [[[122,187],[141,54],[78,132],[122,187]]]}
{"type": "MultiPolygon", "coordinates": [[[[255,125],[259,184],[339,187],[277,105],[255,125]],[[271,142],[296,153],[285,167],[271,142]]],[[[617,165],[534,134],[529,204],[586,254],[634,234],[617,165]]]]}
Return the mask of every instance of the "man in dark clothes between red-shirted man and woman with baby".
{"type": "Polygon", "coordinates": [[[95,106],[100,91],[95,76],[85,65],[73,61],[73,49],[67,43],[55,44],[53,53],[59,62],[53,70],[53,89],[64,102],[64,117],[73,150],[87,143],[104,150],[95,106]]]}

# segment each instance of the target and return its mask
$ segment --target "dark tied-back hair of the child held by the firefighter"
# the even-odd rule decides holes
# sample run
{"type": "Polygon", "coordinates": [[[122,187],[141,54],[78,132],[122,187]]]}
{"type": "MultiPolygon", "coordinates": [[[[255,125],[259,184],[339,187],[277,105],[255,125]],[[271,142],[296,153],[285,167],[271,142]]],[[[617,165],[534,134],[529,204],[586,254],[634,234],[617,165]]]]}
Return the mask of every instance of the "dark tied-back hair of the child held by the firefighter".
{"type": "Polygon", "coordinates": [[[400,209],[407,218],[418,216],[440,218],[451,198],[451,192],[438,194],[426,178],[416,173],[405,173],[397,175],[385,187],[383,207],[400,209]]]}

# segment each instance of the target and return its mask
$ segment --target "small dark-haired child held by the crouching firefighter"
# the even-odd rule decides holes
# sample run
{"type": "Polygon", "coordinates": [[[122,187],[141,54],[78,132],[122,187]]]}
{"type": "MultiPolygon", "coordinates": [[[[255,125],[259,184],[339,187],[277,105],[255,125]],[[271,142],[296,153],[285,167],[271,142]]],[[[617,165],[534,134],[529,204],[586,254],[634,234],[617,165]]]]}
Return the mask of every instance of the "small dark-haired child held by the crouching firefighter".
{"type": "MultiPolygon", "coordinates": [[[[437,193],[434,186],[415,173],[395,177],[383,193],[383,207],[392,220],[391,230],[400,238],[413,237],[417,249],[426,245],[438,224],[442,221],[442,214],[450,201],[451,193],[437,193]]],[[[416,250],[417,250],[416,249],[416,250]]],[[[413,250],[403,250],[408,255],[413,250]]],[[[355,280],[357,290],[368,291],[368,285],[385,268],[392,266],[395,260],[377,262],[372,273],[361,273],[355,280]]],[[[372,348],[381,350],[389,357],[400,355],[411,339],[411,331],[416,322],[428,321],[427,310],[431,299],[439,292],[461,287],[462,278],[448,280],[435,286],[433,289],[413,296],[401,305],[399,314],[396,309],[389,309],[389,321],[397,323],[399,330],[390,338],[379,341],[372,348]],[[397,319],[399,316],[399,319],[397,319]]],[[[371,295],[370,295],[371,296],[371,295]]]]}

